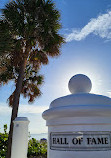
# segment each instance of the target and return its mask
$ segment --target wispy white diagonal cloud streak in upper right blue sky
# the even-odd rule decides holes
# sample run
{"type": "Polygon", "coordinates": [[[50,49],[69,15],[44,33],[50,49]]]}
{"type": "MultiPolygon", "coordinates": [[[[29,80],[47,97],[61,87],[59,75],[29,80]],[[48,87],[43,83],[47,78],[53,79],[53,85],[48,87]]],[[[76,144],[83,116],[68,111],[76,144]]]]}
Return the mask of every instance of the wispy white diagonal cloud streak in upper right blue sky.
{"type": "Polygon", "coordinates": [[[93,33],[107,40],[111,39],[111,11],[93,18],[82,29],[73,29],[72,33],[66,35],[66,42],[72,40],[80,41],[93,33]]]}

